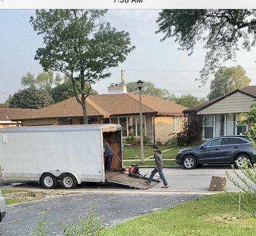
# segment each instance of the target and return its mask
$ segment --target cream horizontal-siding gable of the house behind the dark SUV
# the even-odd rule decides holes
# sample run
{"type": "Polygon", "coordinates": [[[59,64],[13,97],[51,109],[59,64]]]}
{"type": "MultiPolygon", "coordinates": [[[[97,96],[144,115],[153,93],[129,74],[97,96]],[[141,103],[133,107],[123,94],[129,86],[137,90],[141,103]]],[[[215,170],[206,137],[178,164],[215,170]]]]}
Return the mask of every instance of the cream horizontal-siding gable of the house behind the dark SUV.
{"type": "Polygon", "coordinates": [[[197,114],[223,114],[223,113],[242,113],[249,112],[251,104],[255,101],[254,96],[250,96],[242,91],[224,97],[216,101],[205,109],[200,110],[197,114]]]}

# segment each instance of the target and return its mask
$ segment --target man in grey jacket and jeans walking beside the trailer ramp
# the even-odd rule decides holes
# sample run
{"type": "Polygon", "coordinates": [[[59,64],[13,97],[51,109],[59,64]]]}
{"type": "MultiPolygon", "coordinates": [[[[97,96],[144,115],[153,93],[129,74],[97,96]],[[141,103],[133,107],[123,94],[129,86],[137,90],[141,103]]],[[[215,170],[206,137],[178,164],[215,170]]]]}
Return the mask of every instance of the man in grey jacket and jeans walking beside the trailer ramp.
{"type": "Polygon", "coordinates": [[[147,183],[147,185],[150,185],[154,175],[158,172],[159,175],[160,175],[161,180],[164,182],[164,185],[161,188],[168,188],[169,186],[168,186],[166,177],[164,176],[164,173],[163,173],[163,158],[162,158],[162,155],[161,155],[161,151],[158,150],[157,145],[153,145],[153,149],[154,149],[154,152],[155,152],[154,153],[155,168],[151,172],[150,178],[148,178],[148,180],[145,181],[145,183],[147,183]]]}

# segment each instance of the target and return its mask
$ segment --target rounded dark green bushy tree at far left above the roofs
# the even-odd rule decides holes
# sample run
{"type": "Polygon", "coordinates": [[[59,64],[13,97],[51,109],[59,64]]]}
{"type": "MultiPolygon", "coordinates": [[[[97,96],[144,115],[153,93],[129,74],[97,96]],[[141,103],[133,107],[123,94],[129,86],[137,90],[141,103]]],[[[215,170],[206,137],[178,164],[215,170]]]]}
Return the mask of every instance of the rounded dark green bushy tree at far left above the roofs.
{"type": "Polygon", "coordinates": [[[31,86],[14,93],[8,103],[10,108],[41,109],[53,104],[54,100],[47,90],[31,86]]]}

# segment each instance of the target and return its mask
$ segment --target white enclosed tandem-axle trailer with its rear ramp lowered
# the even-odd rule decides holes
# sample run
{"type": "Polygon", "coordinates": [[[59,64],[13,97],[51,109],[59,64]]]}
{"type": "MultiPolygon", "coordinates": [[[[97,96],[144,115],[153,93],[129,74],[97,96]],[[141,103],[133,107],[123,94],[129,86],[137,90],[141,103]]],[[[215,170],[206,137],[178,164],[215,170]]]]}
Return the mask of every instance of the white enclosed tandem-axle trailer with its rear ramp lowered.
{"type": "Polygon", "coordinates": [[[0,175],[5,180],[38,181],[44,188],[76,188],[81,182],[115,182],[147,188],[122,173],[122,133],[118,124],[24,126],[0,129],[0,175]],[[103,140],[114,150],[111,172],[104,169],[103,140]]]}

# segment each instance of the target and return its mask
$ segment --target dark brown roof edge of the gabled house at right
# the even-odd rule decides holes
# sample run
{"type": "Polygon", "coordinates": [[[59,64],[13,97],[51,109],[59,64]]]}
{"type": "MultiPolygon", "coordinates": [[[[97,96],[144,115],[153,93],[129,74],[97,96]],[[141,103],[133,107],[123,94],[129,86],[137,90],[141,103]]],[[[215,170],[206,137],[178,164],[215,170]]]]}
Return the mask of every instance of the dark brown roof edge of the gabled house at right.
{"type": "Polygon", "coordinates": [[[243,89],[237,89],[237,90],[232,91],[231,93],[226,94],[224,96],[216,97],[216,99],[212,99],[212,100],[206,101],[205,103],[199,104],[195,107],[190,107],[188,109],[185,109],[183,111],[183,113],[184,114],[196,114],[200,110],[206,109],[206,107],[209,107],[212,104],[215,104],[218,101],[221,101],[222,99],[225,99],[226,97],[229,97],[234,93],[242,93],[242,94],[248,95],[250,97],[254,97],[256,99],[256,86],[247,86],[247,87],[244,87],[243,89]]]}

